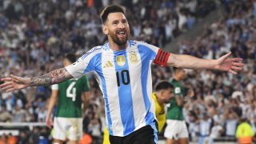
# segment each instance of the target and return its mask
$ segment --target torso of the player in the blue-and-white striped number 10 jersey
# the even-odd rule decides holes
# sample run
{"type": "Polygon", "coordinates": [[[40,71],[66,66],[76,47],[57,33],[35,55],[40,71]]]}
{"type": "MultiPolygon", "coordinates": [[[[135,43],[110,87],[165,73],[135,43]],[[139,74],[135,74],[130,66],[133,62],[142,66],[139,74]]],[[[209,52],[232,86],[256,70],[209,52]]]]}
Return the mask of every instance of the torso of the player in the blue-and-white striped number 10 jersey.
{"type": "Polygon", "coordinates": [[[113,134],[117,132],[114,135],[129,134],[145,125],[145,118],[154,119],[154,114],[146,116],[152,108],[151,61],[135,42],[129,45],[126,50],[102,50],[95,61],[94,74],[105,99],[108,125],[113,134]]]}

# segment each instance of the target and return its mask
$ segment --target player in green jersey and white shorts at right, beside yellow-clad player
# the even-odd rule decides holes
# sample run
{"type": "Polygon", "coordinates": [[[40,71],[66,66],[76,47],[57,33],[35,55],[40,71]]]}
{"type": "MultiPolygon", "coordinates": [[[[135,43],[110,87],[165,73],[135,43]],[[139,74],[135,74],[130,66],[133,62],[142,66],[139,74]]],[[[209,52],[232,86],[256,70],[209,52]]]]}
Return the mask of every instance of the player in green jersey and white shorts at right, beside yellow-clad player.
{"type": "Polygon", "coordinates": [[[186,122],[183,118],[182,108],[189,98],[194,96],[193,90],[188,90],[188,95],[185,95],[185,89],[182,86],[182,79],[186,77],[184,69],[174,68],[174,78],[170,83],[174,86],[174,97],[167,105],[166,144],[174,144],[176,141],[180,144],[188,144],[189,134],[186,128],[186,122]]]}

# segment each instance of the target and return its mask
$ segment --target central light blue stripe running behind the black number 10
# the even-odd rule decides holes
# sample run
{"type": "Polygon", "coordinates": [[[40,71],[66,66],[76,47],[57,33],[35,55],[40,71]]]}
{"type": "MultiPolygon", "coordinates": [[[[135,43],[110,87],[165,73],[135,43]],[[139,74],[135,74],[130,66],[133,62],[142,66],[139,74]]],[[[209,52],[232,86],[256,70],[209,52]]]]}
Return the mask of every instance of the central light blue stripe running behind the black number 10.
{"type": "Polygon", "coordinates": [[[114,52],[114,65],[115,65],[116,74],[118,73],[119,75],[119,78],[117,78],[117,80],[119,79],[119,83],[120,83],[120,86],[118,86],[118,98],[119,98],[120,113],[121,113],[121,119],[122,119],[122,125],[123,125],[123,135],[127,135],[134,131],[135,124],[134,124],[134,108],[133,108],[131,86],[130,86],[130,83],[125,85],[122,82],[122,75],[125,78],[125,82],[128,81],[126,73],[123,73],[123,70],[129,70],[125,50],[114,52]],[[126,62],[124,66],[118,65],[117,63],[118,55],[125,56],[126,62]]]}

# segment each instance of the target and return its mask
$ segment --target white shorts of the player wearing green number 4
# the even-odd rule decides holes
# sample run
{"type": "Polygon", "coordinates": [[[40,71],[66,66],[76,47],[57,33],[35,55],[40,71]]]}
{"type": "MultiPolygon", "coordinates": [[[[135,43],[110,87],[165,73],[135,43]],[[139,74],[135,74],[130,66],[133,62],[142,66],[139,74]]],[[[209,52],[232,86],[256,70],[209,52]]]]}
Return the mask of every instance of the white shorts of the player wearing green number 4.
{"type": "Polygon", "coordinates": [[[82,118],[54,118],[54,139],[78,141],[82,138],[82,118]]]}

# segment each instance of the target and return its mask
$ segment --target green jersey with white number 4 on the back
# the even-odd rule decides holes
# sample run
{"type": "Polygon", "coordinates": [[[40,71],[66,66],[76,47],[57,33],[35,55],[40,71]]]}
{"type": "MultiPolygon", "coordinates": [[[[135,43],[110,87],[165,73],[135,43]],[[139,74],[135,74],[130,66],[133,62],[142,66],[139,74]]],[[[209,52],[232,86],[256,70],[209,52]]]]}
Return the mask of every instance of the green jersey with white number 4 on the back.
{"type": "Polygon", "coordinates": [[[90,90],[86,75],[53,85],[52,90],[58,90],[56,117],[82,118],[82,93],[90,90]]]}

